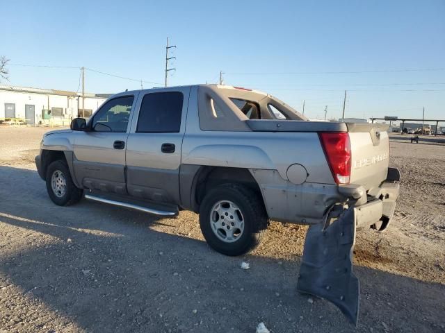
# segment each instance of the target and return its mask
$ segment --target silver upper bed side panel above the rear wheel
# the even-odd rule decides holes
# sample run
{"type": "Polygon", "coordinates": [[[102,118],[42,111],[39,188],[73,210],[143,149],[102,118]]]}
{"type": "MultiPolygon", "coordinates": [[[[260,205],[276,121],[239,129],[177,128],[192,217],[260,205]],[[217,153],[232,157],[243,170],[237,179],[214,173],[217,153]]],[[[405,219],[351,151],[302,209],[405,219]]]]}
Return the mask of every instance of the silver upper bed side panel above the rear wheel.
{"type": "Polygon", "coordinates": [[[187,133],[182,164],[276,170],[287,180],[291,164],[302,164],[307,182],[334,184],[317,133],[187,133]]]}

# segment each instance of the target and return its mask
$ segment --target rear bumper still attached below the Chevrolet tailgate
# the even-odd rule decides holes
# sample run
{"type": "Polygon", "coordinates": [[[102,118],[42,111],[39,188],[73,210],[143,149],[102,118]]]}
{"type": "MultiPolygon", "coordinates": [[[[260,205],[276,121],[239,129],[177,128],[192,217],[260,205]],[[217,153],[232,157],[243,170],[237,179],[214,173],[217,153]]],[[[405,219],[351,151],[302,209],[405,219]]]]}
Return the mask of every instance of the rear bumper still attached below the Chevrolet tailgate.
{"type": "Polygon", "coordinates": [[[362,186],[357,185],[339,187],[341,194],[356,200],[354,210],[357,230],[369,226],[373,226],[379,231],[387,228],[396,210],[400,178],[398,169],[388,168],[385,182],[382,182],[380,187],[370,189],[368,192],[362,186]]]}

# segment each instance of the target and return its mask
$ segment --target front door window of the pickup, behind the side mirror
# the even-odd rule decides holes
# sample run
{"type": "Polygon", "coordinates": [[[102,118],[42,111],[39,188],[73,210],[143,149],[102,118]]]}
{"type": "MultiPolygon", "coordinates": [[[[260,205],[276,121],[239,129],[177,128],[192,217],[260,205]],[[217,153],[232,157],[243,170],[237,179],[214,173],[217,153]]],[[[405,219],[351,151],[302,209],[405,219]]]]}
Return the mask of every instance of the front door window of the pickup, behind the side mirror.
{"type": "Polygon", "coordinates": [[[123,96],[106,102],[92,119],[92,128],[96,132],[126,132],[133,99],[123,96]]]}

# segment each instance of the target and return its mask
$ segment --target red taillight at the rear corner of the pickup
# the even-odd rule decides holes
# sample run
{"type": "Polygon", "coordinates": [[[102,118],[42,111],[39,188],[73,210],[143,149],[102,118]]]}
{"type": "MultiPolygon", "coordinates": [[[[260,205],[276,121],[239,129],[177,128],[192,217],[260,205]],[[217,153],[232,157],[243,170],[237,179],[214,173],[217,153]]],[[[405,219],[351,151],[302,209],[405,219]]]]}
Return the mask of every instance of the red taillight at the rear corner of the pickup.
{"type": "Polygon", "coordinates": [[[350,140],[348,133],[320,133],[326,160],[337,184],[349,184],[350,140]]]}

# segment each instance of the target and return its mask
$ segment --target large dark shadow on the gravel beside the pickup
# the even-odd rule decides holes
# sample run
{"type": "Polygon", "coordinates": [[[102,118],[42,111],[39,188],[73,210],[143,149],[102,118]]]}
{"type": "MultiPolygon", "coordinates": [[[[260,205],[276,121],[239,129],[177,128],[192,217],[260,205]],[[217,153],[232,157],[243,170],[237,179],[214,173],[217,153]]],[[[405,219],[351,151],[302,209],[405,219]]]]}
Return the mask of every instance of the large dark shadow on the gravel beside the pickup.
{"type": "Polygon", "coordinates": [[[0,305],[36,298],[61,318],[45,322],[41,308],[22,308],[33,332],[70,323],[86,332],[253,332],[260,321],[273,332],[440,332],[444,325],[442,284],[356,267],[355,329],[329,302],[312,304],[296,291],[298,259],[225,257],[203,241],[152,229],[175,220],[88,202],[57,207],[35,171],[0,167],[0,183],[0,225],[8,227],[0,229],[0,276],[19,288],[0,291],[0,305]],[[243,260],[250,270],[239,267],[243,260]]]}

